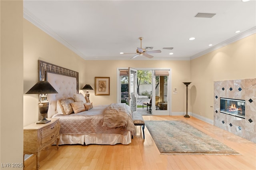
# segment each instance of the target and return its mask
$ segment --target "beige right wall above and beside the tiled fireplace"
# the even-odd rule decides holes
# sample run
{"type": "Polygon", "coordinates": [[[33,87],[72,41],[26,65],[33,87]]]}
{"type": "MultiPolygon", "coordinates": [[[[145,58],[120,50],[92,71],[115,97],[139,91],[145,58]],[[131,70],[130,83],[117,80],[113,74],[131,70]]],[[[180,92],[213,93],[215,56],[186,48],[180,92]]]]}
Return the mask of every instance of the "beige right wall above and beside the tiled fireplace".
{"type": "Polygon", "coordinates": [[[191,112],[213,120],[213,82],[256,77],[256,34],[191,60],[191,112]]]}

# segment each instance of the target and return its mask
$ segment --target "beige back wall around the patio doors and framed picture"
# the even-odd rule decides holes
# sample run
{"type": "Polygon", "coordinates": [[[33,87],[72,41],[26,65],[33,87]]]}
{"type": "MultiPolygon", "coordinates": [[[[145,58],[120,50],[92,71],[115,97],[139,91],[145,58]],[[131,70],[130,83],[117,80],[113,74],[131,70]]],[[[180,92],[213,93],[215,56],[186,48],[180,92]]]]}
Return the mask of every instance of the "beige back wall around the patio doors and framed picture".
{"type": "Polygon", "coordinates": [[[90,100],[94,105],[116,103],[117,68],[170,68],[171,86],[178,89],[177,95],[172,95],[172,112],[186,112],[186,86],[182,83],[190,81],[190,61],[162,61],[162,60],[86,60],[86,83],[94,89],[94,77],[110,77],[110,95],[95,96],[90,91],[90,100]]]}

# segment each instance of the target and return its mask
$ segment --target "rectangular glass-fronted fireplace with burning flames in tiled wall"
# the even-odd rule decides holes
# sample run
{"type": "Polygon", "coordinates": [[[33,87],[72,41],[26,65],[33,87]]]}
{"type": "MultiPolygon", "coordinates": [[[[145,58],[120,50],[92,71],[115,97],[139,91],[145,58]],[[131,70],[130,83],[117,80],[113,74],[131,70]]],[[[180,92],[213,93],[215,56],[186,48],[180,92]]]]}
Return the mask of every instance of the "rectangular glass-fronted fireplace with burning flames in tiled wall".
{"type": "Polygon", "coordinates": [[[245,119],[245,101],[220,98],[220,112],[245,119]]]}

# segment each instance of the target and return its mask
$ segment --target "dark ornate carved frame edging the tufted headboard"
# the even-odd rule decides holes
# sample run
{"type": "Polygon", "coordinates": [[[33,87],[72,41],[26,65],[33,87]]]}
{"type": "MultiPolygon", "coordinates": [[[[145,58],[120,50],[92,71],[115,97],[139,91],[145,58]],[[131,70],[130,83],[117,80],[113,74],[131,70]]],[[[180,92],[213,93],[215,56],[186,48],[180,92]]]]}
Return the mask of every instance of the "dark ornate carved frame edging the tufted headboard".
{"type": "Polygon", "coordinates": [[[46,80],[47,72],[60,74],[60,75],[66,75],[69,77],[76,77],[76,91],[78,93],[78,72],[70,70],[70,69],[66,69],[64,67],[60,67],[58,65],[47,63],[42,60],[38,60],[39,81],[46,80]]]}

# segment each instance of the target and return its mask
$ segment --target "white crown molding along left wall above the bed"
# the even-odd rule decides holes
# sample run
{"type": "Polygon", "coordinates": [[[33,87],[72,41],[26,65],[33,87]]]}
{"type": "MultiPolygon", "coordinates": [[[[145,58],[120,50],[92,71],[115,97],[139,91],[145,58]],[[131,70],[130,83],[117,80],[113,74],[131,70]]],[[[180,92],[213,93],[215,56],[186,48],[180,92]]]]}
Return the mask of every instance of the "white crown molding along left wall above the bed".
{"type": "Polygon", "coordinates": [[[36,16],[34,16],[31,12],[29,12],[25,7],[23,7],[23,17],[28,20],[29,22],[31,22],[32,24],[34,24],[35,26],[37,26],[38,28],[40,28],[41,30],[43,30],[44,32],[46,32],[46,34],[48,34],[49,36],[51,36],[52,38],[54,38],[55,40],[57,40],[58,42],[62,43],[63,45],[65,45],[68,49],[72,50],[74,53],[76,53],[77,55],[79,55],[82,58],[86,58],[83,53],[81,53],[80,51],[78,51],[75,47],[73,47],[70,43],[66,42],[66,40],[64,40],[63,38],[61,38],[60,36],[58,36],[58,34],[56,34],[55,32],[53,32],[46,24],[44,24],[42,21],[40,21],[38,18],[36,18],[36,16]]]}

